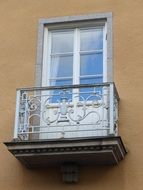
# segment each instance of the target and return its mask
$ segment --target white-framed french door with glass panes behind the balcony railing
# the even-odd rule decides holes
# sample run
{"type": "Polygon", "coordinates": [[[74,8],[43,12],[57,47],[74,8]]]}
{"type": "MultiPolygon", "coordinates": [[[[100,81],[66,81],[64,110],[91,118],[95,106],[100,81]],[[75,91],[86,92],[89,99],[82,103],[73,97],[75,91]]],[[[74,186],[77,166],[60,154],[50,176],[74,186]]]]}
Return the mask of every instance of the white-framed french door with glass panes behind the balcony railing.
{"type": "MultiPolygon", "coordinates": [[[[42,85],[63,86],[106,82],[106,49],[106,25],[49,31],[45,28],[42,85]]],[[[100,114],[104,115],[102,121],[106,120],[107,117],[107,111],[103,107],[97,106],[96,111],[93,111],[91,106],[93,100],[92,90],[94,91],[91,88],[76,88],[67,90],[67,92],[54,90],[44,94],[45,97],[50,97],[48,98],[49,109],[45,111],[45,114],[46,117],[51,117],[51,124],[49,123],[48,125],[46,136],[42,134],[40,138],[74,138],[92,136],[93,133],[95,136],[96,134],[97,136],[103,135],[105,133],[103,131],[97,132],[95,130],[93,132],[92,129],[95,128],[95,125],[90,125],[94,122],[99,123],[100,114]],[[56,121],[53,111],[58,107],[58,102],[63,100],[61,93],[65,93],[63,95],[63,97],[66,96],[65,104],[70,105],[70,108],[66,110],[68,116],[67,113],[61,114],[56,121]],[[82,115],[83,106],[85,107],[82,103],[84,102],[85,104],[85,100],[86,104],[89,105],[89,113],[91,114],[87,114],[88,116],[83,120],[78,120],[76,114],[81,112],[82,115]],[[79,102],[81,103],[79,104],[79,102]],[[71,109],[76,110],[73,111],[74,113],[70,117],[69,112],[71,109]],[[55,123],[52,121],[55,121],[55,123]]],[[[100,95],[96,95],[96,102],[104,99],[105,103],[106,98],[101,96],[103,91],[106,90],[98,88],[96,89],[97,91],[100,95]]],[[[45,100],[43,101],[45,102],[45,100]]],[[[60,110],[61,108],[58,109],[60,110]]],[[[43,121],[42,125],[44,125],[43,121]]]]}

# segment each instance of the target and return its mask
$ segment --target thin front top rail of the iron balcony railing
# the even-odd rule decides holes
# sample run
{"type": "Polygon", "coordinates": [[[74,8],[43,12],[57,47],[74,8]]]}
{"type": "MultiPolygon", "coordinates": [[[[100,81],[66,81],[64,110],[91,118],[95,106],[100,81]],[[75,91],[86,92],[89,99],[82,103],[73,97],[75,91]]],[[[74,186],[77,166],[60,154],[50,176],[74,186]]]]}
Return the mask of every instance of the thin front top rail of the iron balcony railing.
{"type": "MultiPolygon", "coordinates": [[[[74,88],[91,88],[91,87],[103,87],[110,86],[113,82],[105,83],[94,83],[94,84],[77,84],[77,85],[62,85],[62,86],[46,86],[46,87],[28,87],[28,88],[17,88],[20,91],[41,91],[41,90],[63,90],[63,89],[74,89],[74,88]]],[[[114,85],[115,87],[115,85],[114,85]]]]}

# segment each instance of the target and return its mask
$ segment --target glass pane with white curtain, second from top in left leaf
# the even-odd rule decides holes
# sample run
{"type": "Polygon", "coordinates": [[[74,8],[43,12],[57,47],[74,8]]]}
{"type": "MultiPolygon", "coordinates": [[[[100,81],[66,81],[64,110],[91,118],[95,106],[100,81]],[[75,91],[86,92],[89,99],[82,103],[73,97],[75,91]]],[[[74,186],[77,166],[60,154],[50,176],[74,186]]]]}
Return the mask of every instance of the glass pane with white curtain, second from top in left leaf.
{"type": "Polygon", "coordinates": [[[73,56],[52,56],[50,78],[72,77],[73,56]]]}

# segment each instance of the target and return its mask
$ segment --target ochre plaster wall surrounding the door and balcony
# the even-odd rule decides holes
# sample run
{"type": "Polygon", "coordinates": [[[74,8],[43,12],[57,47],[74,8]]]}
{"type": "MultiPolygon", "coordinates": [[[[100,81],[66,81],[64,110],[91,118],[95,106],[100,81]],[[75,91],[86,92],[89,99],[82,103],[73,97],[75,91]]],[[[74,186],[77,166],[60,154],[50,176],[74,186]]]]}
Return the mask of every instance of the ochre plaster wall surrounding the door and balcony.
{"type": "Polygon", "coordinates": [[[143,189],[142,23],[142,0],[0,0],[0,190],[143,189]],[[79,183],[67,185],[58,168],[24,168],[2,142],[12,139],[15,89],[34,86],[38,19],[97,12],[113,13],[119,131],[129,152],[118,166],[82,168],[79,183]]]}

